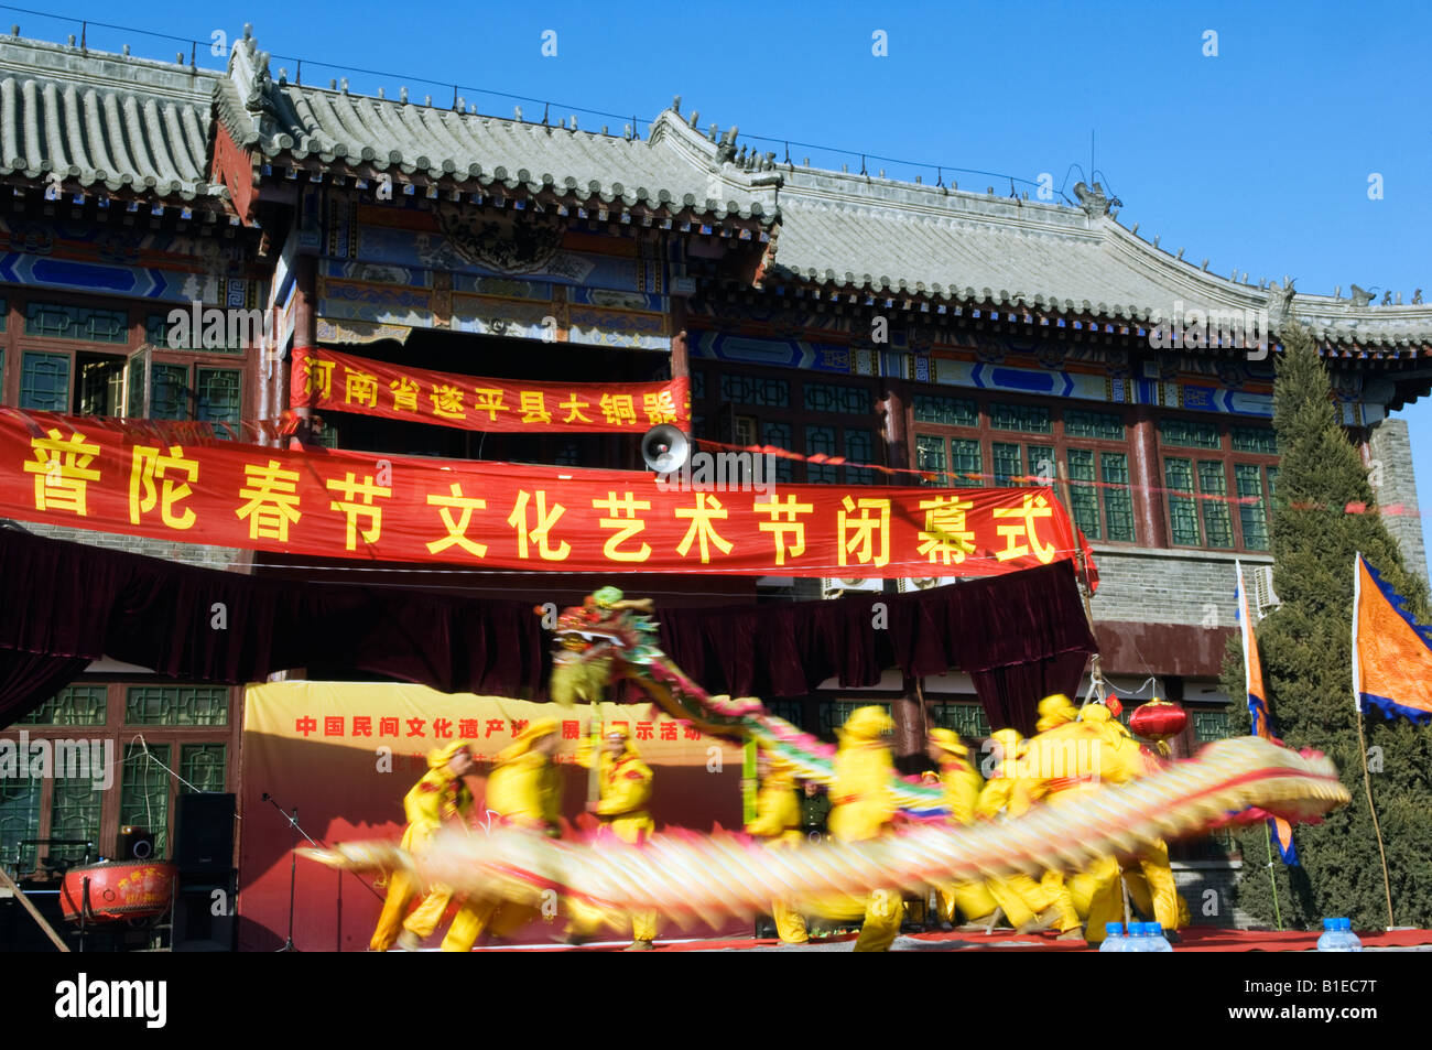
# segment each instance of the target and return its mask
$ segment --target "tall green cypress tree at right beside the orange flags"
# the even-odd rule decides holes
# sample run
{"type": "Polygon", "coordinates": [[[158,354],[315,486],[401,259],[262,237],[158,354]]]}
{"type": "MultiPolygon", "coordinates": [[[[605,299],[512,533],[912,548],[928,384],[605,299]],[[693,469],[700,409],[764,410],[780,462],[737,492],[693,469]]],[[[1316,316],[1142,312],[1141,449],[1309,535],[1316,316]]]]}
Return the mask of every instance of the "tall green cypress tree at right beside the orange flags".
{"type": "MultiPolygon", "coordinates": [[[[1313,928],[1325,917],[1348,915],[1355,928],[1382,930],[1386,894],[1352,693],[1353,557],[1362,552],[1422,623],[1429,622],[1428,592],[1382,523],[1362,457],[1337,423],[1327,371],[1302,328],[1286,334],[1276,361],[1273,427],[1280,456],[1273,589],[1283,605],[1257,623],[1272,728],[1290,748],[1326,753],[1352,794],[1352,804],[1326,822],[1295,825],[1300,867],[1285,867],[1274,848],[1277,902],[1285,928],[1313,928]]],[[[1250,732],[1237,635],[1229,642],[1223,688],[1233,698],[1233,731],[1250,732]]],[[[1375,709],[1363,719],[1393,914],[1399,925],[1426,927],[1432,924],[1432,728],[1388,721],[1375,709]]],[[[1240,831],[1237,839],[1239,905],[1272,924],[1263,824],[1240,831]]]]}

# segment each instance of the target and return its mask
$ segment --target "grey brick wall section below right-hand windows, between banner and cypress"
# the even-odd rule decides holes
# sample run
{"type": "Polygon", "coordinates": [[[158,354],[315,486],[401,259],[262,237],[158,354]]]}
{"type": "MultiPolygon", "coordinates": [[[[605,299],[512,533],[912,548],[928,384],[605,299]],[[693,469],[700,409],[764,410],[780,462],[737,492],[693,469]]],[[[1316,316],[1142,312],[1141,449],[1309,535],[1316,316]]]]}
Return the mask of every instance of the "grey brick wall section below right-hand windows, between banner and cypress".
{"type": "MultiPolygon", "coordinates": [[[[1239,554],[1244,572],[1273,564],[1267,554],[1239,554]]],[[[1232,627],[1237,572],[1233,554],[1094,544],[1095,620],[1232,627]]]]}

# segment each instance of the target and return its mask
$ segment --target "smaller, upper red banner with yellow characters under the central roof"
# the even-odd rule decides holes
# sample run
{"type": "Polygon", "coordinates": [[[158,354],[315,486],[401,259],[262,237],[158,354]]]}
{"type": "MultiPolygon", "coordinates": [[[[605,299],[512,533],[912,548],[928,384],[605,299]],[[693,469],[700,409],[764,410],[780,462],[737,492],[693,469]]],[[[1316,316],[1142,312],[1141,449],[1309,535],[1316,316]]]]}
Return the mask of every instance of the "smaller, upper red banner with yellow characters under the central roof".
{"type": "Polygon", "coordinates": [[[644,433],[690,428],[689,380],[530,382],[408,368],[322,347],[294,350],[295,408],[358,413],[441,427],[524,434],[644,433]]]}

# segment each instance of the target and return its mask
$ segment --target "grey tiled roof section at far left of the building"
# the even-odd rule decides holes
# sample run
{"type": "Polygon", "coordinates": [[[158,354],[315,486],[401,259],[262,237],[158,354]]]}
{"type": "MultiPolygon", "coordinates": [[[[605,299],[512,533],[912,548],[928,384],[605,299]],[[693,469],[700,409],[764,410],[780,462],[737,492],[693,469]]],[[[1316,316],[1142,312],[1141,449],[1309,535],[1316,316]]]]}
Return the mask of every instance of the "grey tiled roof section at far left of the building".
{"type": "Polygon", "coordinates": [[[0,37],[0,173],[132,189],[185,202],[211,186],[209,123],[219,74],[0,37]]]}

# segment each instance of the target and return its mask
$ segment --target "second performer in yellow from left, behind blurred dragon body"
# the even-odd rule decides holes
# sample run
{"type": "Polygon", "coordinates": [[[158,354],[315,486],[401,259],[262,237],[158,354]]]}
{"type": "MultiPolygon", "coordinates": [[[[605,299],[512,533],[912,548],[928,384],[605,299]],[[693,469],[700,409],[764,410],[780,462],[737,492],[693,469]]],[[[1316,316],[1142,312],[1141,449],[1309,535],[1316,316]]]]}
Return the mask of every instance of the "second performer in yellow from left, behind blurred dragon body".
{"type": "MultiPolygon", "coordinates": [[[[487,808],[508,827],[537,835],[556,835],[561,812],[561,782],[551,756],[557,751],[558,723],[537,719],[497,755],[487,779],[487,808]]],[[[543,894],[523,884],[521,900],[468,901],[442,938],[442,951],[471,951],[483,931],[507,937],[541,915],[543,894]]]]}

